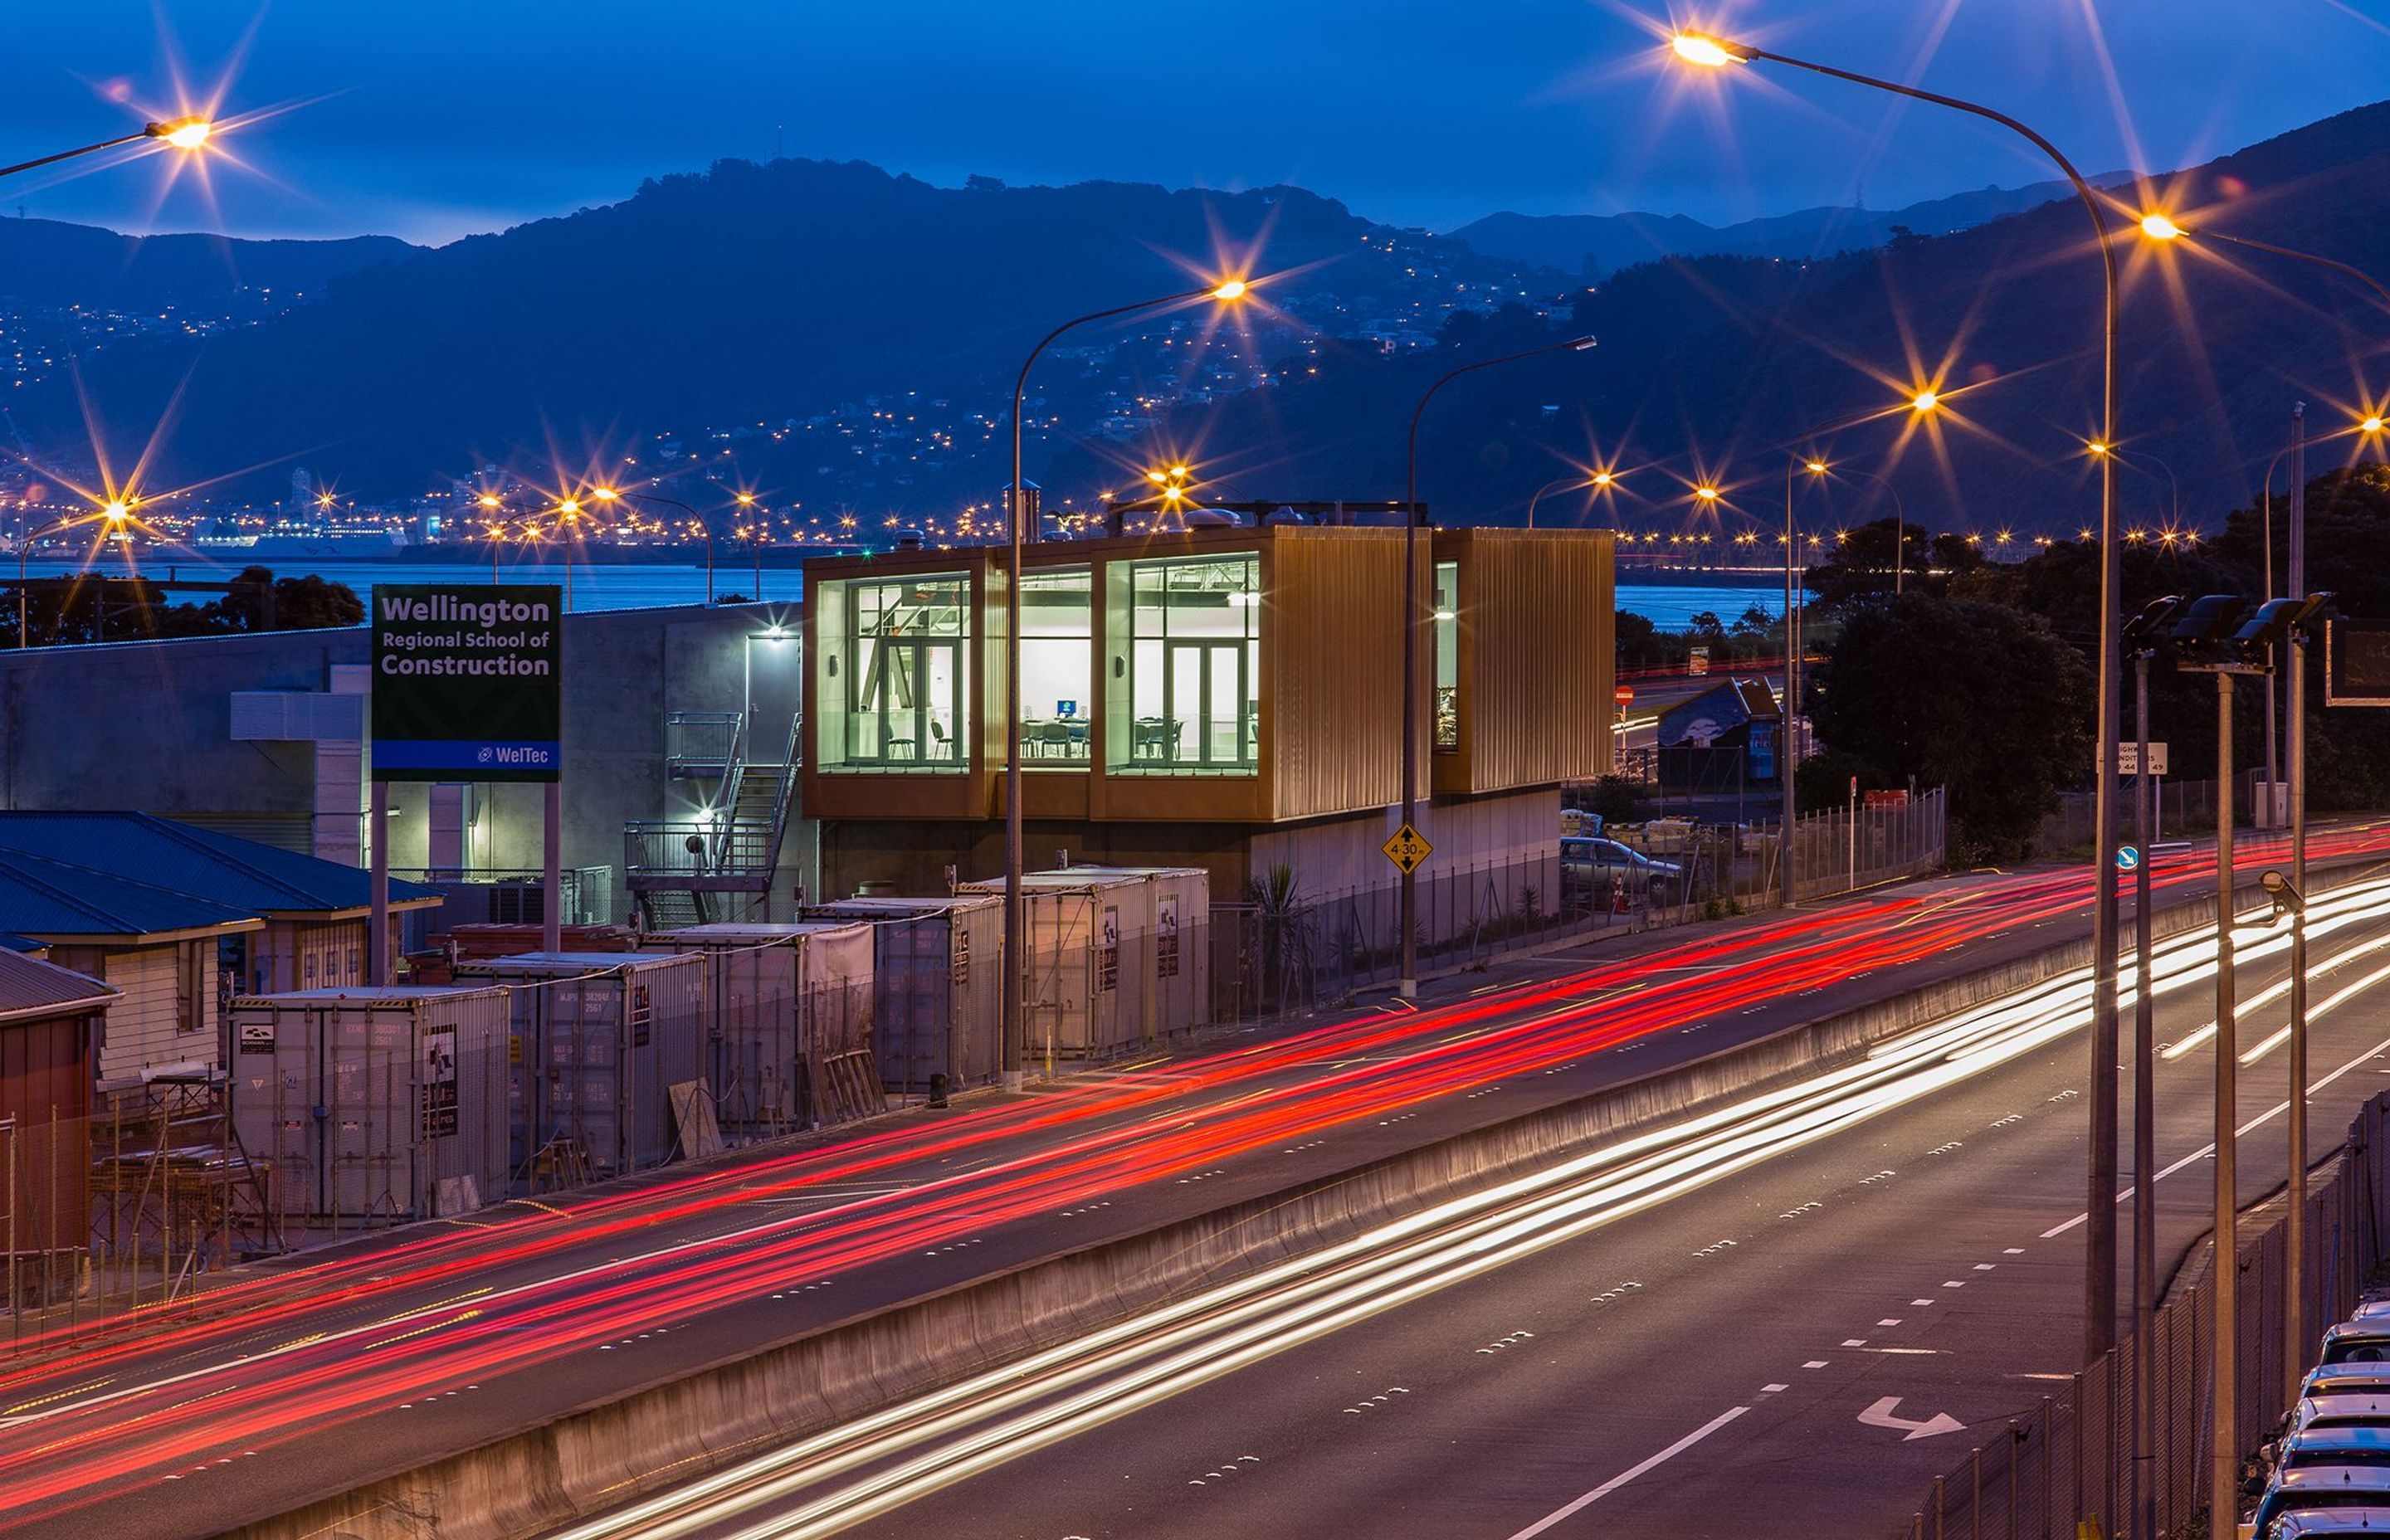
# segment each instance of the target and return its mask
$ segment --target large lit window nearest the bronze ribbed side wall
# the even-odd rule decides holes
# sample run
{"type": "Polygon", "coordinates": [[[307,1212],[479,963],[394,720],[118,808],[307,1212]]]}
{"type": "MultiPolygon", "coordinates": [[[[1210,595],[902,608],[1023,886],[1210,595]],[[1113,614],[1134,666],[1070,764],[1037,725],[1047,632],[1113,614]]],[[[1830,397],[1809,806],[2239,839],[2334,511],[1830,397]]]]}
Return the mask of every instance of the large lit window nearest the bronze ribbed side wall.
{"type": "Polygon", "coordinates": [[[1107,770],[1252,775],[1262,734],[1262,557],[1236,552],[1111,569],[1107,770]]]}

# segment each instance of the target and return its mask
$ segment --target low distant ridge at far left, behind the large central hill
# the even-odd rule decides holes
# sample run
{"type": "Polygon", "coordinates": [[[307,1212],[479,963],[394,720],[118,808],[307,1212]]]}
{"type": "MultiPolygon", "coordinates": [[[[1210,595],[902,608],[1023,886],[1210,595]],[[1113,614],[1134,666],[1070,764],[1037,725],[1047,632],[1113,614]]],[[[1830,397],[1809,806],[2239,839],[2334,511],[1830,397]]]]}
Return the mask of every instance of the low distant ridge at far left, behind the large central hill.
{"type": "Polygon", "coordinates": [[[0,297],[91,311],[208,308],[241,289],[313,294],[335,277],[423,251],[425,246],[390,234],[337,242],[139,237],[60,220],[0,218],[0,297]]]}

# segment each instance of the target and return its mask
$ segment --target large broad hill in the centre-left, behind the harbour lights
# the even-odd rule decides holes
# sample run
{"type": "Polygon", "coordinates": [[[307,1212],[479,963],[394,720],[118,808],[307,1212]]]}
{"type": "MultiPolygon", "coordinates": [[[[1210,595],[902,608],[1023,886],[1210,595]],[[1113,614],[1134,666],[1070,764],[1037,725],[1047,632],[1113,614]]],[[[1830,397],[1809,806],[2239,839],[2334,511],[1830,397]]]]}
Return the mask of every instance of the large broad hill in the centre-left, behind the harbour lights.
{"type": "MultiPolygon", "coordinates": [[[[1001,485],[978,459],[989,418],[1056,318],[1195,287],[1166,253],[1233,258],[1264,232],[1271,270],[1307,270],[1286,301],[1312,306],[1267,337],[1271,352],[1314,311],[1322,325],[1401,328],[1451,306],[1456,285],[1522,292],[1518,263],[1291,187],[944,189],[863,163],[724,160],[614,206],[347,273],[318,304],[253,328],[108,347],[81,373],[129,426],[179,392],[160,473],[186,481],[304,457],[344,493],[399,495],[483,464],[652,464],[650,450],[719,457],[736,438],[743,478],[798,497],[985,497],[1001,485]],[[872,402],[870,418],[829,421],[851,402],[872,402]],[[934,433],[899,440],[932,411],[946,414],[934,433]]],[[[1083,423],[1097,397],[1233,387],[1190,361],[1188,325],[1159,318],[1135,359],[1073,368],[1056,354],[1042,390],[1083,423]]],[[[1073,344],[1121,337],[1090,328],[1073,344]]],[[[62,385],[12,407],[36,445],[81,438],[62,385]]]]}

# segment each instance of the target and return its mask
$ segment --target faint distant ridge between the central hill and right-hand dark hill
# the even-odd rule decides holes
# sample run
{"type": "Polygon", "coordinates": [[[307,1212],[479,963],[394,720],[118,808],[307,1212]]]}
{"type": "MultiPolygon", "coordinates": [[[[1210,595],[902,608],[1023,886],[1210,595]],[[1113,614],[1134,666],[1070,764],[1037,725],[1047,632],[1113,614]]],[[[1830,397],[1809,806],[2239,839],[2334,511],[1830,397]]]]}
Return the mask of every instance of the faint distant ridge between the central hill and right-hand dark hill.
{"type": "MultiPolygon", "coordinates": [[[[2132,182],[2132,172],[2091,177],[2094,187],[2132,182]]],[[[1561,273],[1616,273],[1666,256],[1781,256],[1809,261],[1836,251],[1881,246],[1895,232],[1953,234],[2003,215],[2070,198],[2067,182],[1986,187],[1981,191],[1926,198],[1907,208],[1802,208],[1738,225],[1704,225],[1673,213],[1527,215],[1489,213],[1451,230],[1451,239],[1487,256],[1556,268],[1561,273]]]]}

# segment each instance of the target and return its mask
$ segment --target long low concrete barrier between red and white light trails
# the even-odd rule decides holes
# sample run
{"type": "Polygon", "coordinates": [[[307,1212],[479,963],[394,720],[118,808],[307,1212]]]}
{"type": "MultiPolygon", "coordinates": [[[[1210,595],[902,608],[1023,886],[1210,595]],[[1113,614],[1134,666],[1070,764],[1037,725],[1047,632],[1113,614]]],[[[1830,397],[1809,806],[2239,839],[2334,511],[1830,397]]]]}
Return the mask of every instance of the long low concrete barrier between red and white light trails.
{"type": "MultiPolygon", "coordinates": [[[[2244,911],[2259,904],[2256,890],[2247,890],[2244,911]]],[[[2213,899],[2187,902],[2163,911],[2156,928],[2182,935],[2213,925],[2213,899]]],[[[2079,940],[1960,973],[1279,1193],[760,1344],[227,1533],[241,1540],[538,1535],[1558,1155],[1852,1062],[1912,1026],[2089,961],[2091,945],[2079,940]]]]}

